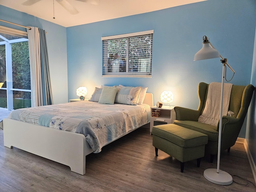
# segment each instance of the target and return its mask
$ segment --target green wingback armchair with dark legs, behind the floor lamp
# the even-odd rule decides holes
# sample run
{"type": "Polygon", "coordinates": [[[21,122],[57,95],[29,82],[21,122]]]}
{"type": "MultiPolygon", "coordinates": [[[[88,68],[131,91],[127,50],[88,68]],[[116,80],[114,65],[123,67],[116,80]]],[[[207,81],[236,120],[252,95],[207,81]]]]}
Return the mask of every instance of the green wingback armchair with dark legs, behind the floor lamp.
{"type": "MultiPolygon", "coordinates": [[[[174,108],[176,112],[174,124],[207,134],[208,144],[205,146],[205,154],[210,154],[210,162],[213,162],[214,155],[218,153],[219,123],[217,126],[213,126],[198,122],[198,118],[202,114],[206,104],[208,86],[209,84],[204,82],[198,85],[198,110],[182,107],[174,108]]],[[[246,117],[254,89],[254,86],[251,84],[247,86],[232,86],[228,110],[234,112],[234,114],[232,116],[223,116],[222,118],[221,150],[228,149],[229,152],[230,147],[235,144],[242,124],[244,123],[244,118],[246,117]]]]}

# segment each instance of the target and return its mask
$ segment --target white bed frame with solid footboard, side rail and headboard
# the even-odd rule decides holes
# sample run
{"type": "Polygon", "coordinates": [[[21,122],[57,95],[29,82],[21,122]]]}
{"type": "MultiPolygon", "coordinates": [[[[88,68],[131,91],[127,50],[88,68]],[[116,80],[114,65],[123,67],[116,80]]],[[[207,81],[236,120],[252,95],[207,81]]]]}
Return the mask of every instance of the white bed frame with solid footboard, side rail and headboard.
{"type": "MultiPolygon", "coordinates": [[[[151,93],[146,93],[144,103],[150,105],[150,107],[153,106],[153,95],[151,93]]],[[[4,146],[8,148],[14,146],[32,154],[67,165],[71,171],[78,174],[85,174],[86,155],[93,151],[86,142],[83,134],[56,130],[10,118],[3,120],[3,127],[4,146]]]]}

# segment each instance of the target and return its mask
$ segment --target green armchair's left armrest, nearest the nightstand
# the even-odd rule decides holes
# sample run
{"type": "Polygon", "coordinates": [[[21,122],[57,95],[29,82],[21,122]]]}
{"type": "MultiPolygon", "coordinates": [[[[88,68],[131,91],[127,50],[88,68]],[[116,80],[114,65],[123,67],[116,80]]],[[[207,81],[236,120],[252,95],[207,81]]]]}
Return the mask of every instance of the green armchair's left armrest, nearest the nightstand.
{"type": "Polygon", "coordinates": [[[198,121],[200,116],[200,111],[188,109],[184,107],[174,107],[177,120],[188,120],[188,121],[198,121]]]}

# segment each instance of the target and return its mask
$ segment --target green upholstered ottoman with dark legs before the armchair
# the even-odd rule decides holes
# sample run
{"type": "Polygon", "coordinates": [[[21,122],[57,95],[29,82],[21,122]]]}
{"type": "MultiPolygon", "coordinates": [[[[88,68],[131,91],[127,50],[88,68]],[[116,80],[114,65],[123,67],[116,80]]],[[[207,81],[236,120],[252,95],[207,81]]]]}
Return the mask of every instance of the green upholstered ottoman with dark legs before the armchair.
{"type": "Polygon", "coordinates": [[[158,156],[158,149],[180,161],[180,171],[184,170],[184,162],[200,159],[204,156],[204,146],[208,142],[206,134],[190,130],[175,124],[153,126],[153,146],[158,156]]]}

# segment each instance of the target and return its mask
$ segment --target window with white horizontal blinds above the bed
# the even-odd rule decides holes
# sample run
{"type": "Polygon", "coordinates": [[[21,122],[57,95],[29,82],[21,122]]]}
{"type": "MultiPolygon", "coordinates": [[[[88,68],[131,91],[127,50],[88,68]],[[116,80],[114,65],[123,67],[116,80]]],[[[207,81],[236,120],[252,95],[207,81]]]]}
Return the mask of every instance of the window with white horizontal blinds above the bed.
{"type": "Polygon", "coordinates": [[[102,37],[102,76],[151,77],[153,33],[102,37]]]}

